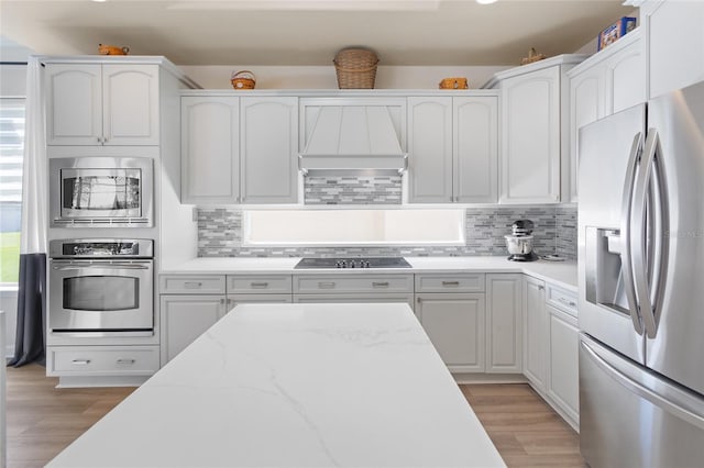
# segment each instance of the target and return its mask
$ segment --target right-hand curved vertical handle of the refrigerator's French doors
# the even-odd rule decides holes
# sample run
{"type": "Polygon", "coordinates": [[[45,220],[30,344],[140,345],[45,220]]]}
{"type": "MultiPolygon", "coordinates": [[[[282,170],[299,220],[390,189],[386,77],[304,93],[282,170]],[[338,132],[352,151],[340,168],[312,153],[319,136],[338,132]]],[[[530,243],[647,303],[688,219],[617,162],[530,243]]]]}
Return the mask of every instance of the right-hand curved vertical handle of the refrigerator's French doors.
{"type": "MultiPolygon", "coordinates": [[[[640,316],[646,328],[646,335],[654,338],[657,325],[651,302],[651,291],[649,285],[648,263],[648,225],[652,223],[652,216],[648,216],[648,200],[652,200],[651,176],[656,149],[658,147],[658,132],[651,130],[648,133],[640,158],[640,170],[636,179],[634,190],[634,205],[630,216],[630,234],[635,245],[632,245],[632,275],[636,286],[636,300],[639,304],[640,316]]],[[[652,214],[652,213],[651,213],[652,214]]]]}

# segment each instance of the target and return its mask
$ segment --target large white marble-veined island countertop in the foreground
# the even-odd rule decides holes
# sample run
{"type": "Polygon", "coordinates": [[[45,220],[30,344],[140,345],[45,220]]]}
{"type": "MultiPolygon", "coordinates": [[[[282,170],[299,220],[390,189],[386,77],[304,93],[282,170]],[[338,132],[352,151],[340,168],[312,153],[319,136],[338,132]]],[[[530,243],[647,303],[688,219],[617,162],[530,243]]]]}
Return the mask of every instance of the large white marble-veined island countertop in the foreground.
{"type": "Polygon", "coordinates": [[[52,467],[505,466],[406,304],[242,304],[52,467]]]}

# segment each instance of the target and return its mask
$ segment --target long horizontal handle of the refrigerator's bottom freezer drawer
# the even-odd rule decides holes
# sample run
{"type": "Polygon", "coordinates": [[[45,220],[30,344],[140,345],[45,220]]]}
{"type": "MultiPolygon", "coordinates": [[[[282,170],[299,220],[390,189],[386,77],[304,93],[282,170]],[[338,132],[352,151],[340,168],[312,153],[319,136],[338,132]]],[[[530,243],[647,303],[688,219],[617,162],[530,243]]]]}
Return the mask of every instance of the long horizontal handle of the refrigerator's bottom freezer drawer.
{"type": "MultiPolygon", "coordinates": [[[[580,347],[600,369],[620,386],[625,387],[636,395],[649,401],[653,405],[661,408],[673,416],[704,430],[704,415],[702,413],[702,410],[704,409],[695,409],[694,406],[691,406],[692,404],[696,404],[691,401],[689,402],[690,404],[688,404],[686,397],[682,398],[676,393],[668,395],[653,391],[642,382],[629,376],[630,372],[628,372],[627,369],[619,369],[619,366],[615,366],[615,363],[610,363],[605,353],[601,353],[598,348],[590,346],[590,343],[586,343],[584,338],[580,339],[580,347]]],[[[648,381],[650,379],[647,371],[639,369],[637,372],[644,375],[644,380],[648,381]]]]}

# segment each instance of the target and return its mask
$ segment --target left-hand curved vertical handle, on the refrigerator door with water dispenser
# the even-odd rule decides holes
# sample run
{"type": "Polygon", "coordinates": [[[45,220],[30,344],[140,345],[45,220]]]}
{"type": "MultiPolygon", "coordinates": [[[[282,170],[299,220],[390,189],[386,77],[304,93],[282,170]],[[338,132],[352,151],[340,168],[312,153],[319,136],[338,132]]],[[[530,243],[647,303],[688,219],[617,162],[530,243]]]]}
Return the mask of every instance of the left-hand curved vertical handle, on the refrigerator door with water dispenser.
{"type": "Polygon", "coordinates": [[[636,299],[636,286],[634,283],[632,269],[632,246],[631,246],[631,227],[634,186],[636,185],[636,167],[642,153],[642,133],[638,132],[634,136],[634,143],[630,146],[630,156],[626,167],[626,178],[624,182],[624,198],[622,203],[622,225],[620,225],[620,265],[624,278],[624,289],[626,299],[628,300],[628,310],[630,311],[630,320],[634,323],[634,330],[642,335],[644,326],[640,314],[638,313],[638,301],[636,299]]]}

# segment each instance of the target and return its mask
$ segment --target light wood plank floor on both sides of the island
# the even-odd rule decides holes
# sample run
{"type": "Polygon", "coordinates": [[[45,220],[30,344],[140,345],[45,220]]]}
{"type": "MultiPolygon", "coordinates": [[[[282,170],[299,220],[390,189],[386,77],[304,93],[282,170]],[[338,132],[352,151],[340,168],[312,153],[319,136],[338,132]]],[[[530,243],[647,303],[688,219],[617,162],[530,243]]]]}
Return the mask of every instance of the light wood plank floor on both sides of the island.
{"type": "MultiPolygon", "coordinates": [[[[42,467],[132,388],[56,389],[37,365],[8,368],[8,468],[42,467]]],[[[584,467],[579,436],[527,385],[462,385],[509,467],[584,467]]]]}

